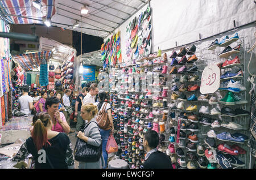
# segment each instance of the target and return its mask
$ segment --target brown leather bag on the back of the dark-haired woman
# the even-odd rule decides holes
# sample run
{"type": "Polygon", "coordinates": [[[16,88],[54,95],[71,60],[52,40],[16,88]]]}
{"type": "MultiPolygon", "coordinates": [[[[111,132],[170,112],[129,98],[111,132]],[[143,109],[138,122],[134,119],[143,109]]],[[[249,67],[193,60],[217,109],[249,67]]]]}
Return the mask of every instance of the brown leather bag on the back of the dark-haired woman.
{"type": "Polygon", "coordinates": [[[105,102],[102,110],[100,110],[100,112],[98,112],[97,117],[96,117],[96,121],[98,123],[98,127],[100,127],[102,130],[110,130],[112,128],[110,120],[109,120],[109,116],[106,113],[106,105],[107,103],[105,102]]]}

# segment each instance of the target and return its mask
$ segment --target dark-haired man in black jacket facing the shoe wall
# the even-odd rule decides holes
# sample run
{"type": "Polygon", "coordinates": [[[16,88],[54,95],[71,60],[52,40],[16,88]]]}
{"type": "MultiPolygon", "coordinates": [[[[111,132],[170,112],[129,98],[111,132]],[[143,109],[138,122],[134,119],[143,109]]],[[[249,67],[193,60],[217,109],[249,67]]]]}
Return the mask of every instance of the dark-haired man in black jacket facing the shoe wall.
{"type": "Polygon", "coordinates": [[[147,152],[144,169],[172,169],[171,159],[156,149],[158,143],[158,133],[154,130],[147,131],[143,139],[144,149],[147,152]]]}

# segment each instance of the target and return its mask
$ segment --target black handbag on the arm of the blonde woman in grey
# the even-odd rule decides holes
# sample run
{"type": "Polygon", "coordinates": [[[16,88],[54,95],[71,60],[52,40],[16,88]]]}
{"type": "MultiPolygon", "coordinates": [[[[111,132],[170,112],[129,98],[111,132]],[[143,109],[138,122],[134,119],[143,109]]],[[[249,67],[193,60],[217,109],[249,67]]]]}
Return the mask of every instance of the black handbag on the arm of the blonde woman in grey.
{"type": "MultiPolygon", "coordinates": [[[[94,121],[92,121],[94,122],[94,121]]],[[[86,126],[88,127],[89,124],[91,122],[89,122],[86,126]]],[[[98,126],[97,122],[96,125],[98,126]]],[[[84,130],[85,130],[84,128],[84,130]]],[[[84,130],[82,132],[84,132],[84,130]]],[[[99,129],[100,131],[100,129],[99,129]]],[[[100,147],[96,147],[94,145],[90,145],[88,143],[86,143],[84,140],[77,138],[76,141],[76,146],[74,149],[74,156],[75,156],[75,160],[76,161],[80,161],[80,162],[97,162],[98,160],[100,160],[101,158],[101,154],[102,154],[102,142],[100,147]]]]}

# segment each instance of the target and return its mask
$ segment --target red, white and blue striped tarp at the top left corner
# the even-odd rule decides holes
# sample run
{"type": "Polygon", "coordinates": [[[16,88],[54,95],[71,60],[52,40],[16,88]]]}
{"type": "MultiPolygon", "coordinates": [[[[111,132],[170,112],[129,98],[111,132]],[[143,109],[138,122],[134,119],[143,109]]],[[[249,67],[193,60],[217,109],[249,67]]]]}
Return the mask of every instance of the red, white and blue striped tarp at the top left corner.
{"type": "Polygon", "coordinates": [[[5,0],[0,1],[3,14],[12,14],[16,16],[7,16],[7,22],[11,24],[42,24],[43,18],[51,18],[55,14],[55,7],[52,6],[55,0],[39,0],[42,4],[41,10],[32,5],[32,0],[5,0]],[[22,18],[26,16],[32,19],[22,18]]]}

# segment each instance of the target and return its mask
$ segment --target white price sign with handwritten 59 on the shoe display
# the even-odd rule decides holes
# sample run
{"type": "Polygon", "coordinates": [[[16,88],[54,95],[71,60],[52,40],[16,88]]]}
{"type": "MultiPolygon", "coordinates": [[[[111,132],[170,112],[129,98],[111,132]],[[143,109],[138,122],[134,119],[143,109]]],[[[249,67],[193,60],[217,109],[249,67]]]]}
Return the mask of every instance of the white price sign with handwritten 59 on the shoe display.
{"type": "Polygon", "coordinates": [[[217,65],[208,65],[204,68],[200,92],[201,94],[214,93],[220,87],[220,68],[217,65]]]}

